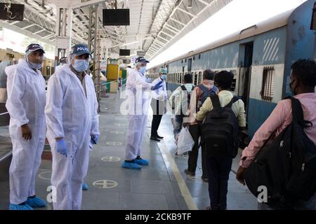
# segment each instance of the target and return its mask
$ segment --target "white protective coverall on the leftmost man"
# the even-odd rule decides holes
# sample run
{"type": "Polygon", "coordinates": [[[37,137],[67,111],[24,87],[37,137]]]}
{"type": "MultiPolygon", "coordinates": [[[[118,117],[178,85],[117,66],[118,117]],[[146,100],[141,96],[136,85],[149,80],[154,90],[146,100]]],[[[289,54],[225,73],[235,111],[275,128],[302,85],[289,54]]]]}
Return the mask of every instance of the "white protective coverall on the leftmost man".
{"type": "Polygon", "coordinates": [[[10,166],[10,202],[20,204],[35,195],[35,179],[45,144],[45,80],[41,71],[34,71],[25,59],[5,69],[8,76],[10,136],[13,158],[10,166]],[[22,137],[21,125],[28,124],[32,139],[22,137]]]}

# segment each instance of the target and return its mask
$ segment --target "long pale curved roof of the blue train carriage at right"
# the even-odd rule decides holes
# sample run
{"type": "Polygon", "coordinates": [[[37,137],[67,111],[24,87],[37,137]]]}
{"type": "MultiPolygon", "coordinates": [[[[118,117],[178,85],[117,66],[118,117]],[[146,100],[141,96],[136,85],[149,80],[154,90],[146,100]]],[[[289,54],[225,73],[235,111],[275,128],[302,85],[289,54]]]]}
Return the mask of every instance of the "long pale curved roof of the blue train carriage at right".
{"type": "MultiPolygon", "coordinates": [[[[218,47],[220,47],[222,45],[226,45],[228,43],[233,43],[235,41],[239,41],[239,40],[242,40],[244,38],[249,38],[251,36],[256,36],[258,34],[263,34],[267,31],[272,30],[272,29],[284,27],[289,22],[289,17],[291,16],[291,13],[293,13],[295,9],[296,8],[293,8],[291,10],[287,10],[286,12],[275,15],[274,17],[269,18],[268,20],[263,20],[262,22],[258,22],[258,24],[256,24],[256,25],[253,25],[253,26],[248,27],[246,29],[242,29],[240,31],[236,31],[235,33],[232,33],[228,36],[225,36],[224,38],[220,38],[217,41],[213,41],[212,43],[204,45],[201,48],[197,48],[196,50],[192,50],[192,51],[186,53],[185,55],[181,55],[179,57],[171,59],[171,60],[164,62],[162,64],[159,64],[157,66],[163,66],[164,64],[176,62],[179,59],[183,59],[185,57],[191,57],[193,55],[197,55],[201,52],[205,52],[207,50],[218,48],[218,47]]],[[[157,66],[154,66],[154,67],[157,67],[157,66]]]]}

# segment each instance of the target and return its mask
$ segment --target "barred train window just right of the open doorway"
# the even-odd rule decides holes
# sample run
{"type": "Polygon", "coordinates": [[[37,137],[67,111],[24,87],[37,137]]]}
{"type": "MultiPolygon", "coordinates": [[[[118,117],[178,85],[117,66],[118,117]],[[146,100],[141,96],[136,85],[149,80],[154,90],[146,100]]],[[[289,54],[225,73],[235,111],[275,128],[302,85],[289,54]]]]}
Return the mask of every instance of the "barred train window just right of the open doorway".
{"type": "Polygon", "coordinates": [[[263,81],[261,87],[261,99],[272,101],[275,92],[275,69],[266,67],[263,69],[263,81]]]}

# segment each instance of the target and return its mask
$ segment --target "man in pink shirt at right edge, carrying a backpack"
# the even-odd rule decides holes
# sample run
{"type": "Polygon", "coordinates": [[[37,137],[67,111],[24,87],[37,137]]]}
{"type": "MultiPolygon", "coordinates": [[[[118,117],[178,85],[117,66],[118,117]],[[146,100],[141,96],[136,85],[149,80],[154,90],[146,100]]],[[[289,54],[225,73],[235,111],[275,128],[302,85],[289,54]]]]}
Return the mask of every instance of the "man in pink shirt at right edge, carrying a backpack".
{"type": "MultiPolygon", "coordinates": [[[[308,138],[316,145],[316,62],[309,59],[300,59],[291,66],[291,69],[291,91],[294,97],[301,102],[304,120],[312,123],[312,126],[305,128],[304,131],[308,138]]],[[[242,152],[242,158],[236,174],[236,179],[240,183],[245,185],[244,171],[254,160],[265,141],[268,140],[273,132],[275,132],[275,136],[272,139],[275,139],[291,121],[291,100],[284,99],[277,104],[269,118],[265,120],[265,123],[254,134],[249,146],[242,152]]],[[[308,205],[303,205],[302,208],[316,209],[316,198],[312,198],[310,202],[306,202],[305,204],[308,205]]]]}

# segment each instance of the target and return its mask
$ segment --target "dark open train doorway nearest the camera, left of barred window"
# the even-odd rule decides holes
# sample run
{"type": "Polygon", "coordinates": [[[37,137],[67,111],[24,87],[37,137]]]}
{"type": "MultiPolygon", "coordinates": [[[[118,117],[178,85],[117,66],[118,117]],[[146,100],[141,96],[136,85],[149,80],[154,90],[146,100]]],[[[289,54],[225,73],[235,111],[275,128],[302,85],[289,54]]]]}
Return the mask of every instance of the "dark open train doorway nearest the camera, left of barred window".
{"type": "MultiPolygon", "coordinates": [[[[239,68],[239,90],[238,94],[242,97],[246,113],[248,111],[249,93],[250,93],[250,79],[251,79],[251,65],[254,52],[254,42],[240,45],[241,51],[244,55],[241,56],[242,64],[239,68]]],[[[248,113],[247,113],[248,114],[248,113]]],[[[248,117],[248,116],[247,116],[248,117]]]]}

